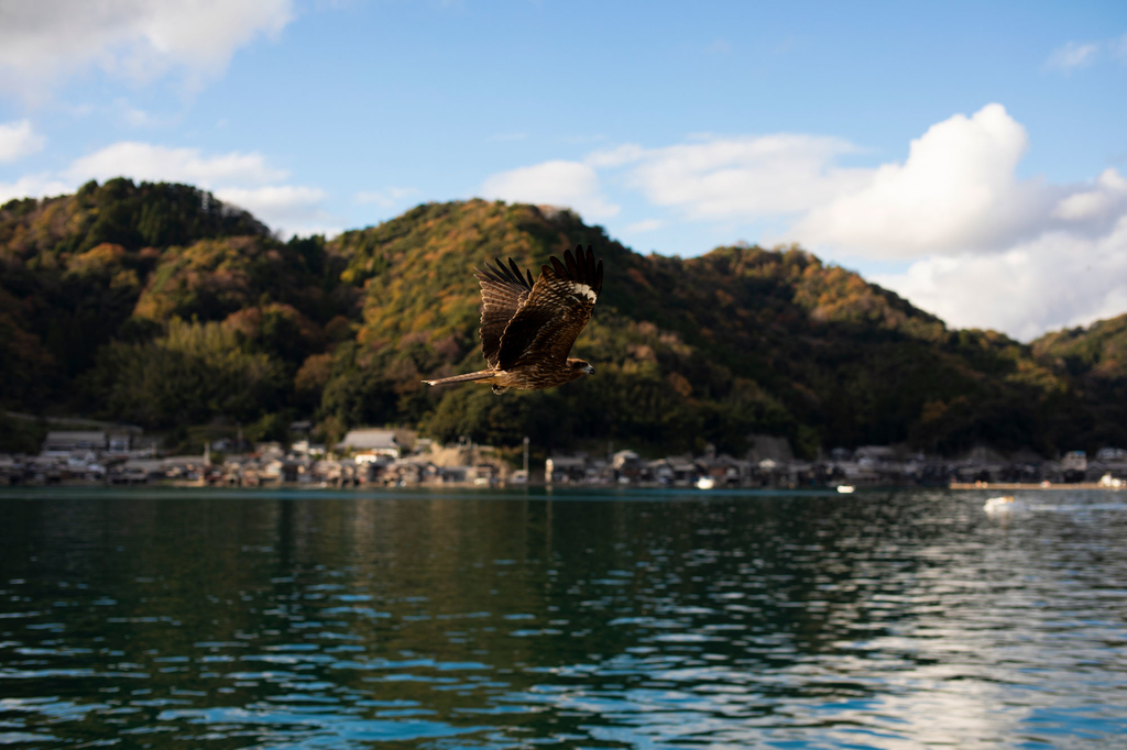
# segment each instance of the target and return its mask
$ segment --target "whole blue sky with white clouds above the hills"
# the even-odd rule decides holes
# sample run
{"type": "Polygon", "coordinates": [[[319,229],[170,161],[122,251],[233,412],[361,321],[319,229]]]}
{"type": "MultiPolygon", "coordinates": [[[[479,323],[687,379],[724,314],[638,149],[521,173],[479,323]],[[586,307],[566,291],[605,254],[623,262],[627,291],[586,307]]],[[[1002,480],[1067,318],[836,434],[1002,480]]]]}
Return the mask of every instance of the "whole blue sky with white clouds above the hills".
{"type": "Polygon", "coordinates": [[[284,234],[568,205],[799,242],[956,325],[1127,312],[1127,5],[0,2],[0,200],[124,173],[284,234]]]}

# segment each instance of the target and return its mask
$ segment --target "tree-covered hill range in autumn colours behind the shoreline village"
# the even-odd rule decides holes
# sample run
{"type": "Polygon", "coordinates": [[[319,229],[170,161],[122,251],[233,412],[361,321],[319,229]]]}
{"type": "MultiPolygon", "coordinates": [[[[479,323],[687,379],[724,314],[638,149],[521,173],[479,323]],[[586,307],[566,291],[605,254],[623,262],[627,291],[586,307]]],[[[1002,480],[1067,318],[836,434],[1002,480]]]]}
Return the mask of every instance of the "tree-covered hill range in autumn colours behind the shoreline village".
{"type": "Polygon", "coordinates": [[[329,242],[282,242],[204,191],[118,179],[5,205],[0,264],[0,401],[16,411],[154,430],[238,422],[252,437],[299,418],[327,439],[402,423],[544,449],[742,452],[752,434],[806,455],[1127,444],[1107,401],[1124,401],[1121,354],[1085,343],[1121,340],[1124,319],[1023,346],[949,330],[799,249],[640,256],[566,211],[426,204],[329,242]],[[535,270],[578,243],[606,268],[575,351],[595,376],[504,396],[420,385],[482,365],[474,266],[535,270]]]}

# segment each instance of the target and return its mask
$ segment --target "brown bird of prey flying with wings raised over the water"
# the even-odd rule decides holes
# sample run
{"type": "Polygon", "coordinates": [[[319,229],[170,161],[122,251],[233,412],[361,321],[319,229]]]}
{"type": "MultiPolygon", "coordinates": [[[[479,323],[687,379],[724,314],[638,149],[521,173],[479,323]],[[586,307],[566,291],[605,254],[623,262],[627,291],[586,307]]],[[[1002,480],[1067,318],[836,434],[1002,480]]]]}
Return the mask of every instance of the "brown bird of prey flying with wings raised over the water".
{"type": "Polygon", "coordinates": [[[508,267],[494,260],[496,268],[473,269],[481,283],[481,352],[489,368],[423,382],[479,381],[504,393],[552,389],[593,374],[594,367],[568,357],[603,288],[603,261],[595,260],[591,245],[584,252],[580,244],[575,255],[566,250],[564,262],[552,257],[535,284],[532,273],[522,274],[512,258],[508,267]]]}

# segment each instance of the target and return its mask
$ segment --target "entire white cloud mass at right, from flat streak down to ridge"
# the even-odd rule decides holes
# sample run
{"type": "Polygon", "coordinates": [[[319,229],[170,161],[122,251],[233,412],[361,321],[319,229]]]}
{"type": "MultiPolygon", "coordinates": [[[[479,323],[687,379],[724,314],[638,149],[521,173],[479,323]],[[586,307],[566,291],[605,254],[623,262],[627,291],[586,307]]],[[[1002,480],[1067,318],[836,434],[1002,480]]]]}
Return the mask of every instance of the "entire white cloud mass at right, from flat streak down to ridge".
{"type": "Polygon", "coordinates": [[[1026,128],[991,104],[931,126],[905,160],[869,169],[837,166],[859,150],[848,142],[786,133],[624,144],[586,163],[621,170],[651,205],[712,231],[790,223],[762,240],[911,261],[877,280],[955,325],[1030,338],[1127,311],[1127,179],[1110,168],[1081,185],[1019,179],[1028,146],[1026,128]]]}

